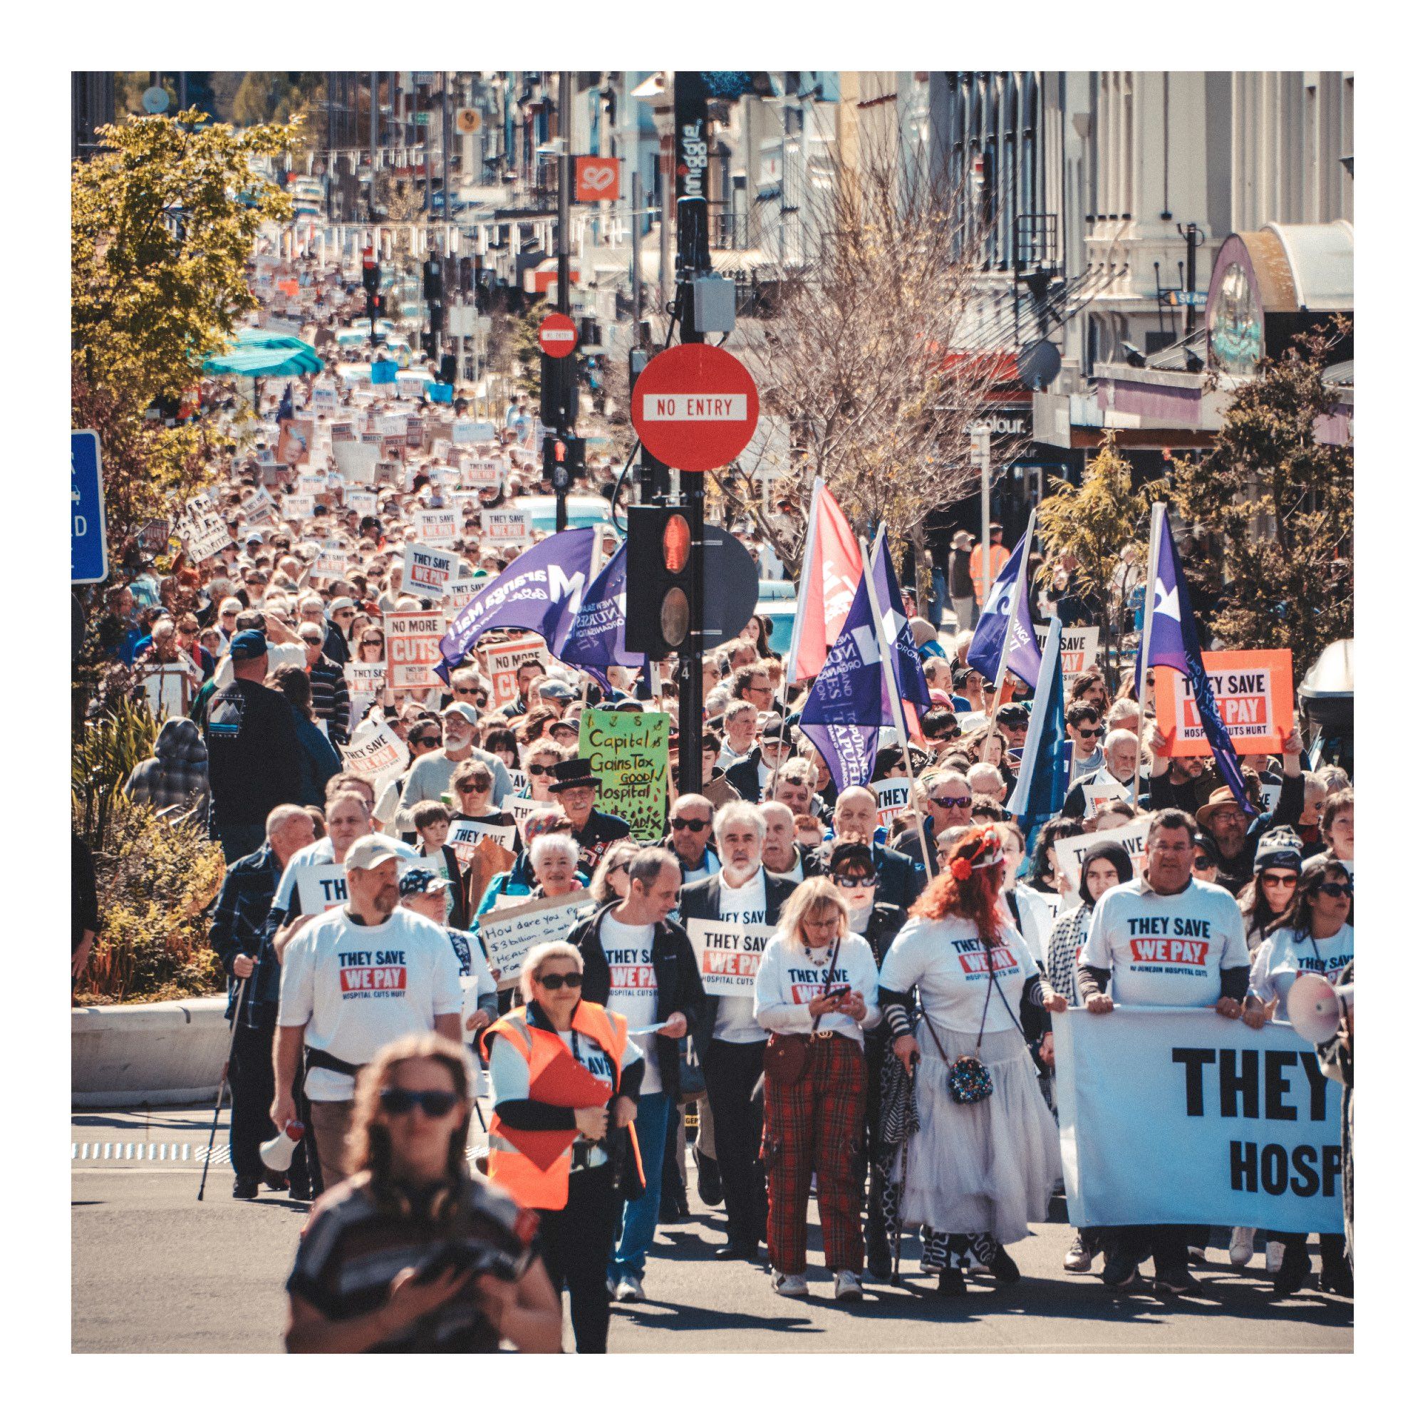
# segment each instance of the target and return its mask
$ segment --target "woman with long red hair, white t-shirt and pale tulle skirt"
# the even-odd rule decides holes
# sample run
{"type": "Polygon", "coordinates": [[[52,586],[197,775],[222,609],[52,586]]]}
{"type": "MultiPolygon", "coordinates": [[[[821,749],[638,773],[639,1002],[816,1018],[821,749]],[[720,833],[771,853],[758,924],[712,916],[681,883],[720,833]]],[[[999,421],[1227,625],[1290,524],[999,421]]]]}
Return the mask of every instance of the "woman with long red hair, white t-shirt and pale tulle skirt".
{"type": "Polygon", "coordinates": [[[1047,1027],[1045,1012],[1067,1002],[1005,915],[1003,879],[999,831],[969,828],[881,966],[881,1007],[919,1121],[895,1166],[901,1220],[921,1224],[921,1264],[939,1271],[946,1297],[965,1294],[975,1261],[1017,1281],[1005,1244],[1045,1220],[1059,1178],[1059,1130],[1020,1026],[1047,1027]]]}

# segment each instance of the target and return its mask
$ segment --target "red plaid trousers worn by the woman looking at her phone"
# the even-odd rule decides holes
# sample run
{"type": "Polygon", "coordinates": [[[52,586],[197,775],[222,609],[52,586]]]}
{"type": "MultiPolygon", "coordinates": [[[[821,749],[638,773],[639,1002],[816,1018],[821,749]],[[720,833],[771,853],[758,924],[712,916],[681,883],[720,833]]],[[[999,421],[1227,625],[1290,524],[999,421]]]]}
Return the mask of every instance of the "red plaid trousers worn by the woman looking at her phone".
{"type": "Polygon", "coordinates": [[[845,1035],[812,1039],[799,1083],[765,1086],[767,1250],[782,1273],[807,1270],[807,1198],[817,1207],[826,1267],[861,1271],[861,1147],[866,1064],[845,1035]]]}

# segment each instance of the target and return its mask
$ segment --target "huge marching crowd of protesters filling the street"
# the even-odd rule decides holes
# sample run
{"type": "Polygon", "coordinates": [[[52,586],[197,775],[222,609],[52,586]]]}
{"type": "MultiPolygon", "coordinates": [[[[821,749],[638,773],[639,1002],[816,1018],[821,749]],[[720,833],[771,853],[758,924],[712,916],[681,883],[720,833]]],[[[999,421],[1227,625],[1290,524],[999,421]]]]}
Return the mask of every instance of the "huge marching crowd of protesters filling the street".
{"type": "MultiPolygon", "coordinates": [[[[359,296],[311,268],[304,285],[318,325],[359,296]]],[[[198,819],[227,862],[211,943],[231,985],[234,1194],[315,1200],[291,1349],[557,1351],[567,1292],[577,1349],[603,1351],[611,1302],[648,1292],[658,1224],[688,1213],[694,1120],[695,1188],[725,1218],[717,1255],[765,1260],[777,1292],[812,1290],[812,1194],[836,1300],[898,1275],[906,1230],[943,1295],[1013,1282],[1010,1248],[1063,1178],[1056,1016],[1170,1003],[1250,1032],[1284,1016],[1300,973],[1349,982],[1345,774],[1304,770],[1294,732],[1280,757],[1244,758],[1248,817],[1210,761],[1166,755],[1131,680],[1110,688],[1097,667],[1066,690],[1073,779],[1027,856],[1006,802],[1030,707],[969,667],[968,627],[912,620],[932,707],[878,757],[875,782],[906,784],[896,808],[838,792],[798,727],[808,687],[762,618],[705,657],[697,747],[675,700],[628,670],[608,668],[606,691],[529,657],[497,691],[502,634],[449,685],[372,675],[390,667],[385,616],[440,607],[400,591],[419,510],[455,509],[462,579],[516,556],[482,539],[482,510],[542,493],[534,420],[510,403],[466,452],[497,489],[462,494],[457,443],[430,433],[459,412],[355,378],[331,390],[331,408],[311,380],[261,402],[252,447],[192,514],[195,530],[221,520],[224,546],[117,586],[101,631],[103,695],[144,687],[167,714],[125,792],[198,819]],[[392,449],[389,483],[358,492],[326,459],[331,426],[379,435],[393,413],[422,433],[392,449]],[[309,423],[301,459],[292,420],[309,423]],[[309,504],[312,475],[328,487],[309,504]],[[579,754],[596,705],[673,714],[673,781],[698,758],[701,791],[671,799],[661,838],[600,807],[579,754]],[[376,775],[348,751],[380,727],[406,755],[376,775]],[[1139,818],[1140,865],[1106,835],[1139,818]],[[1056,845],[1086,835],[1104,839],[1062,862],[1056,845]],[[304,872],[323,866],[345,879],[332,908],[304,903],[304,872]],[[577,916],[529,949],[517,983],[499,975],[482,918],[570,896],[577,916]],[[1207,926],[1201,965],[1171,980],[1130,949],[1133,923],[1164,913],[1207,926]],[[694,922],[755,933],[750,988],[704,983],[694,922]],[[299,1139],[276,1171],[262,1146],[282,1131],[299,1139]]],[[[973,608],[963,579],[949,591],[973,608]]],[[[1349,1029],[1322,1049],[1347,1082],[1349,1054],[1349,1029]]],[[[1278,1294],[1304,1285],[1305,1238],[1218,1226],[1234,1264],[1260,1248],[1278,1294]]],[[[1154,1288],[1183,1294],[1207,1234],[1086,1228],[1063,1267],[1102,1257],[1104,1284],[1131,1291],[1151,1257],[1154,1288]]],[[[1320,1258],[1321,1287],[1349,1295],[1348,1240],[1322,1238],[1320,1258]]]]}

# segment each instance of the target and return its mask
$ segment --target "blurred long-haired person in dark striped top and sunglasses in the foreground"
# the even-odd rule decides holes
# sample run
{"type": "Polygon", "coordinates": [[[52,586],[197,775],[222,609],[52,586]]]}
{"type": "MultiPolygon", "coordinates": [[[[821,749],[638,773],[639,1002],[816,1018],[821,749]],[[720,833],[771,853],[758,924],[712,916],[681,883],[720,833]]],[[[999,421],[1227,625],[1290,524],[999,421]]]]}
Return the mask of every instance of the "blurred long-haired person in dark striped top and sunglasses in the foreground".
{"type": "Polygon", "coordinates": [[[286,1282],[288,1351],[560,1349],[536,1216],[466,1167],[472,1092],[469,1057],[439,1035],[362,1070],[352,1176],[316,1203],[286,1282]]]}

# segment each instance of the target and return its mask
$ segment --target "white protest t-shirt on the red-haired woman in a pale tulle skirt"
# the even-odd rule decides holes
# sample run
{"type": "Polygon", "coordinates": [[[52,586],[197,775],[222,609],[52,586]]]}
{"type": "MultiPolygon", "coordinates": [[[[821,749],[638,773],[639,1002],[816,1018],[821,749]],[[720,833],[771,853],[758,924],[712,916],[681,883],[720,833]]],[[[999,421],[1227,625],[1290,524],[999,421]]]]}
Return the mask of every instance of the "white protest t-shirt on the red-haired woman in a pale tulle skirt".
{"type": "Polygon", "coordinates": [[[881,963],[881,985],[898,995],[919,986],[925,1013],[940,1029],[975,1035],[979,1033],[982,1016],[986,1035],[1013,1029],[1025,985],[1039,973],[1039,966],[1007,916],[1000,933],[1003,943],[990,950],[973,921],[958,915],[943,921],[915,916],[906,921],[891,942],[881,963]],[[989,975],[990,953],[993,985],[989,975]]]}

